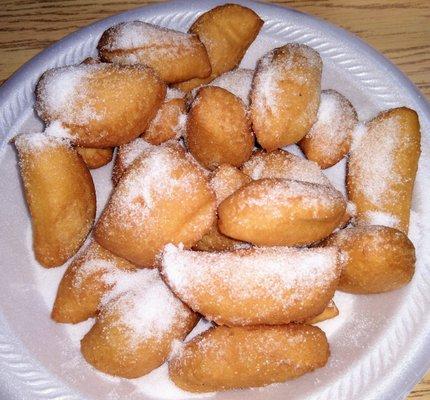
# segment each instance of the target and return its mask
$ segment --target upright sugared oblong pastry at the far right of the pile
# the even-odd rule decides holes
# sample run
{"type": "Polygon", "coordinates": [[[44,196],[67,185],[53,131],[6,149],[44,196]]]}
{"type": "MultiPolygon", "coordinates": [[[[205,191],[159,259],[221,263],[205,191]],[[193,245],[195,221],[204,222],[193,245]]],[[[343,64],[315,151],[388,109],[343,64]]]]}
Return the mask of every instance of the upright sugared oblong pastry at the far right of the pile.
{"type": "Polygon", "coordinates": [[[420,138],[418,115],[406,107],[384,111],[366,123],[353,143],[347,175],[357,223],[408,233],[420,138]]]}

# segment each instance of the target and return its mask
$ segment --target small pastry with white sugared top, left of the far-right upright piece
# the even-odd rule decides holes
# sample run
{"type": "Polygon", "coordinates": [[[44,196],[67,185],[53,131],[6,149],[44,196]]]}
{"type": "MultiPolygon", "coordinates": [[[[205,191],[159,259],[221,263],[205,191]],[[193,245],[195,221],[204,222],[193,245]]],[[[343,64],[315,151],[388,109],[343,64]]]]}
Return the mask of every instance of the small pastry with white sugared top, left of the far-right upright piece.
{"type": "Polygon", "coordinates": [[[335,90],[323,90],[317,119],[299,146],[321,168],[331,167],[349,152],[357,123],[357,113],[346,97],[335,90]]]}

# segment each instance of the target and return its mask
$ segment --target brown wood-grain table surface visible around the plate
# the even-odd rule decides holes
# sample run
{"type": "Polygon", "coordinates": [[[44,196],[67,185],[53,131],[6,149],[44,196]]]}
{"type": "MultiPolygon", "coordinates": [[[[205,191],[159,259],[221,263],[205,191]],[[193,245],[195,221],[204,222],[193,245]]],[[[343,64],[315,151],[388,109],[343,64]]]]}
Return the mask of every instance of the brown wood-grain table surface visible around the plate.
{"type": "MultiPolygon", "coordinates": [[[[66,34],[108,15],[156,2],[1,0],[0,83],[66,34]]],[[[430,0],[273,3],[313,14],[354,32],[393,61],[430,98],[430,0]]],[[[430,400],[430,372],[408,399],[430,400]]]]}

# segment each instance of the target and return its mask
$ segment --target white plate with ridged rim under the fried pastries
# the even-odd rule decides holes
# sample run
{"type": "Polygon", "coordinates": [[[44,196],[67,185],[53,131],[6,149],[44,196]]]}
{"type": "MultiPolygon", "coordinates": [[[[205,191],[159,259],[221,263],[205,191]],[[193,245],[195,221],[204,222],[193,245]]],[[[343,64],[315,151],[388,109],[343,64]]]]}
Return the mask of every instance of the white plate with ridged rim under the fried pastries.
{"type": "MultiPolygon", "coordinates": [[[[156,371],[143,384],[106,379],[82,361],[78,350],[85,326],[66,327],[49,318],[53,285],[63,268],[45,270],[31,251],[31,226],[22,196],[16,156],[7,139],[40,130],[33,90],[46,69],[80,62],[95,53],[100,34],[119,21],[142,19],[186,30],[220,1],[176,1],[131,10],[66,37],[25,64],[0,88],[0,398],[2,399],[148,399],[160,398],[156,371]],[[43,292],[43,293],[42,293],[43,292]],[[143,388],[143,389],[142,389],[143,388]],[[146,394],[145,394],[146,393],[146,394]],[[155,397],[149,397],[148,394],[155,397]]],[[[360,119],[406,105],[417,110],[423,154],[414,194],[412,229],[419,259],[410,285],[374,296],[337,294],[341,316],[322,323],[332,357],[327,367],[286,384],[219,393],[216,399],[400,399],[430,366],[430,107],[413,84],[375,50],[344,30],[297,11],[237,1],[265,21],[242,65],[253,67],[267,50],[302,42],[324,60],[323,87],[345,94],[360,119]],[[427,176],[426,176],[427,175],[427,176]],[[426,250],[427,249],[427,252],[426,250]]],[[[93,172],[99,205],[110,167],[93,172]]],[[[88,329],[89,323],[86,323],[88,329]]],[[[84,324],[85,325],[85,324],[84,324]]],[[[139,382],[139,381],[138,381],[139,382]]],[[[175,395],[176,396],[176,395],[175,395]]],[[[177,394],[179,396],[179,394],[177,394]]],[[[184,395],[187,398],[187,395],[184,395]]]]}

